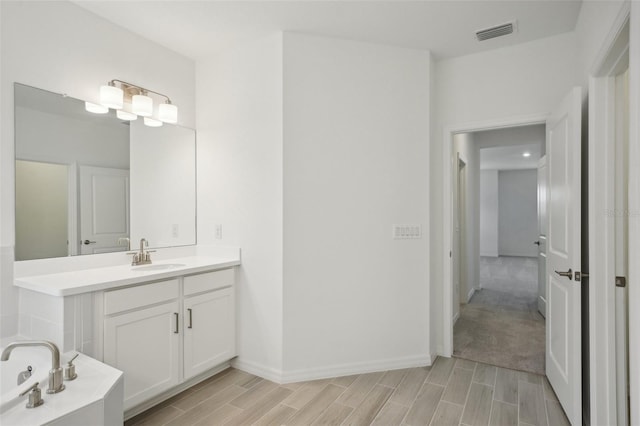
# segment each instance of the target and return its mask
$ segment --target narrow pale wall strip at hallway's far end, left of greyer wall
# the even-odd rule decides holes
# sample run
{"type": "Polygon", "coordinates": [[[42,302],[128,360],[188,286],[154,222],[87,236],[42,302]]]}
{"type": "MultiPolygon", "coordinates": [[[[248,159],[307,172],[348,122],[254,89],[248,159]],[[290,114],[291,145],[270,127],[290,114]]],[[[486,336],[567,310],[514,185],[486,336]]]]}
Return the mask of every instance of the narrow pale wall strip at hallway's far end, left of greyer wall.
{"type": "Polygon", "coordinates": [[[480,171],[480,256],[498,256],[498,171],[480,171]]]}

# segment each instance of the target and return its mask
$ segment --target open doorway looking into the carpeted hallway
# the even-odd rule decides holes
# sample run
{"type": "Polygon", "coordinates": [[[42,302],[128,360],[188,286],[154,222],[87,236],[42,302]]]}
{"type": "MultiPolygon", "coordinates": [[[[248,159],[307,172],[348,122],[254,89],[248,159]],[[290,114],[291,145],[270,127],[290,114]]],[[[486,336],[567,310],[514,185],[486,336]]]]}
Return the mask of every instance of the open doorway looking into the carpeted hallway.
{"type": "Polygon", "coordinates": [[[535,243],[545,127],[460,134],[453,146],[453,272],[459,278],[453,299],[460,303],[453,307],[453,355],[544,375],[545,324],[538,312],[544,294],[535,243]]]}

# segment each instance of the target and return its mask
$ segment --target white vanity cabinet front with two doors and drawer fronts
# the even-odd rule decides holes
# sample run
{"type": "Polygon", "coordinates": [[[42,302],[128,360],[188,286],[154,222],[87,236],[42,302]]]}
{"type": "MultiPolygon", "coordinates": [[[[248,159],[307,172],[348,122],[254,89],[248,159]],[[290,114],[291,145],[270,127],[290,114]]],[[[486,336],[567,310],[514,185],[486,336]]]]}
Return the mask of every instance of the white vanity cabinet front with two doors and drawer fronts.
{"type": "Polygon", "coordinates": [[[103,293],[103,358],[124,372],[125,410],[235,356],[233,284],[230,268],[103,293]]]}

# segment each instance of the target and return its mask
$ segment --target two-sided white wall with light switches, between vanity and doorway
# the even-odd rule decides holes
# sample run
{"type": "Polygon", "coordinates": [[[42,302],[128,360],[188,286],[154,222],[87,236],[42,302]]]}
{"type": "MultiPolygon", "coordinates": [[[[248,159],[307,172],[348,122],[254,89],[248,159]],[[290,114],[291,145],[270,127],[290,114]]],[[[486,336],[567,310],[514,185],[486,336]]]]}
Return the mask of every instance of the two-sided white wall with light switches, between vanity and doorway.
{"type": "Polygon", "coordinates": [[[429,236],[391,239],[393,223],[427,228],[429,67],[297,34],[198,64],[198,241],[242,247],[240,368],[430,362],[429,236]]]}

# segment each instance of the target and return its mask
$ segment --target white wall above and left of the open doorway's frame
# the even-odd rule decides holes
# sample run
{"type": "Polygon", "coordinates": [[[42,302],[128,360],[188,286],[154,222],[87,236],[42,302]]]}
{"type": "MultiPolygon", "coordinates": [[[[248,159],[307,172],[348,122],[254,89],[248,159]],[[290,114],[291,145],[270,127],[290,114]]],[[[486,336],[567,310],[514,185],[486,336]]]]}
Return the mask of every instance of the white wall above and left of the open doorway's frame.
{"type": "MultiPolygon", "coordinates": [[[[445,126],[469,125],[532,114],[545,114],[579,82],[576,37],[562,34],[513,47],[451,58],[436,64],[436,109],[431,162],[431,205],[443,205],[445,126]]],[[[431,211],[432,331],[438,351],[444,348],[442,301],[443,209],[431,211]]]]}

